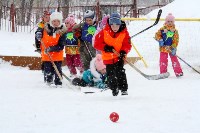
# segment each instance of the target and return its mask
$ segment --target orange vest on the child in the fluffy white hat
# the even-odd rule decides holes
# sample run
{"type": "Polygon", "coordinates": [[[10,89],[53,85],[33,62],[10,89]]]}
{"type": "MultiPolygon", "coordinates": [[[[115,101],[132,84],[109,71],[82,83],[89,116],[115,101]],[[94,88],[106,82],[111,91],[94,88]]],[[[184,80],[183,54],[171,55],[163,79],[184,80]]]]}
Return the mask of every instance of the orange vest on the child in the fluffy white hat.
{"type": "MultiPolygon", "coordinates": [[[[56,34],[55,38],[53,36],[49,36],[47,31],[43,31],[43,37],[42,37],[42,42],[46,46],[46,48],[50,46],[55,46],[58,45],[58,40],[60,38],[59,34],[56,34]]],[[[42,61],[50,61],[49,56],[44,53],[44,47],[43,44],[41,45],[41,56],[42,56],[42,61]]],[[[51,58],[53,61],[63,61],[63,50],[59,52],[49,52],[51,55],[51,58]]]]}

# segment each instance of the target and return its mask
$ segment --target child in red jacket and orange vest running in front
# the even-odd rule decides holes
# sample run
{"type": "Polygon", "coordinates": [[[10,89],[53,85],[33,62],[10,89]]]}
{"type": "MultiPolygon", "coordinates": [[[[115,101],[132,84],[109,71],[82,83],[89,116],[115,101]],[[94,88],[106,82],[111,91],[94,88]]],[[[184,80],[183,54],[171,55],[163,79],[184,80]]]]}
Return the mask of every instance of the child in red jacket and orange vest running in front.
{"type": "Polygon", "coordinates": [[[119,90],[122,95],[128,95],[127,79],[124,69],[124,58],[131,50],[130,36],[124,21],[118,13],[111,14],[108,24],[100,31],[94,40],[94,47],[102,51],[102,59],[106,64],[108,87],[113,96],[117,96],[119,90]],[[117,51],[120,56],[113,51],[117,51]]]}

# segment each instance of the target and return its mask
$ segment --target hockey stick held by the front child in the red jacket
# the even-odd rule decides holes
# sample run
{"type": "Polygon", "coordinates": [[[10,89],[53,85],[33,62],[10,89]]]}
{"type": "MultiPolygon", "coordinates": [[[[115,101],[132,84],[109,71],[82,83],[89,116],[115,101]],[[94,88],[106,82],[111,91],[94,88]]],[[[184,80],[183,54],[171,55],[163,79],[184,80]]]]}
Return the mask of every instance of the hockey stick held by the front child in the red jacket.
{"type": "MultiPolygon", "coordinates": [[[[113,49],[113,52],[120,56],[120,54],[113,49]]],[[[142,71],[140,71],[136,66],[134,66],[132,63],[130,63],[126,58],[124,58],[124,61],[126,61],[133,69],[135,69],[138,73],[140,73],[143,77],[145,77],[148,80],[158,80],[158,79],[165,79],[169,77],[169,72],[162,73],[162,74],[157,74],[157,75],[147,75],[144,74],[142,71]]]]}

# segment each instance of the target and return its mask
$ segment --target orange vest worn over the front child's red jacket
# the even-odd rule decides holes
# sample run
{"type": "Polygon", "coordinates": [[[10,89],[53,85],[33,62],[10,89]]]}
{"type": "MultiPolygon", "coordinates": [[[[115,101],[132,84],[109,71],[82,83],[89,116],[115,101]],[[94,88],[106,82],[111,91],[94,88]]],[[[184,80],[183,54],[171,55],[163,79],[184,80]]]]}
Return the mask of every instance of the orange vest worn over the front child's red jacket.
{"type": "MultiPolygon", "coordinates": [[[[109,45],[109,46],[113,46],[115,48],[115,50],[119,53],[122,47],[122,42],[125,38],[125,33],[120,33],[119,36],[117,38],[113,38],[110,36],[109,32],[106,30],[103,30],[104,33],[104,42],[109,45]]],[[[111,52],[105,52],[102,51],[102,59],[103,60],[112,60],[118,58],[118,56],[114,53],[111,52]]]]}

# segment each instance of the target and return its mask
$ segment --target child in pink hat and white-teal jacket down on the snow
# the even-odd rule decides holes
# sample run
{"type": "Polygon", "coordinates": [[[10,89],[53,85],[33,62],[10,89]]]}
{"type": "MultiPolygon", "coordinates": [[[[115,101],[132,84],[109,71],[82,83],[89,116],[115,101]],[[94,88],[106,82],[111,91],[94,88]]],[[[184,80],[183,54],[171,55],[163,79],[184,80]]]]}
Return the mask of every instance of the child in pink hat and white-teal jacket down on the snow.
{"type": "Polygon", "coordinates": [[[97,54],[90,62],[90,69],[83,72],[82,78],[74,78],[73,85],[107,88],[106,66],[103,63],[101,54],[97,54]]]}

